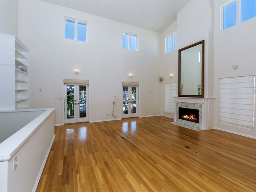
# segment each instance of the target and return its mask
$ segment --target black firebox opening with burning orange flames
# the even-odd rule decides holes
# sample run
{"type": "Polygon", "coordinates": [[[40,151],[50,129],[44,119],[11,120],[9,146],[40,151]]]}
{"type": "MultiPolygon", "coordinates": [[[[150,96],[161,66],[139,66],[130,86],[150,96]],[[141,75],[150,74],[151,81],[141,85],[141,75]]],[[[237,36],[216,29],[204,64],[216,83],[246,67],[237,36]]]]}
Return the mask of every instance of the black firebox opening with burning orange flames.
{"type": "Polygon", "coordinates": [[[199,123],[199,110],[179,107],[179,119],[199,123]]]}

